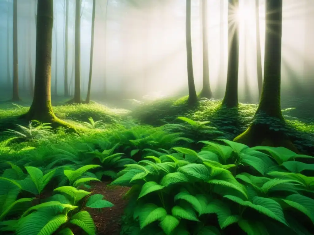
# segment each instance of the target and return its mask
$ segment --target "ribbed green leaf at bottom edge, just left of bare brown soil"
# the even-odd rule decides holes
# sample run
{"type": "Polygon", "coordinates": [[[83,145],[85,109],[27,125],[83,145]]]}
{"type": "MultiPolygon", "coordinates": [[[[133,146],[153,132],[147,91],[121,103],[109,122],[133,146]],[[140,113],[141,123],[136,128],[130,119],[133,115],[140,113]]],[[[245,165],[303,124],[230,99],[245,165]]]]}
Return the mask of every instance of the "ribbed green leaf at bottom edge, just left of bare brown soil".
{"type": "Polygon", "coordinates": [[[82,228],[89,235],[96,235],[94,221],[87,211],[80,211],[73,215],[70,223],[82,228]]]}

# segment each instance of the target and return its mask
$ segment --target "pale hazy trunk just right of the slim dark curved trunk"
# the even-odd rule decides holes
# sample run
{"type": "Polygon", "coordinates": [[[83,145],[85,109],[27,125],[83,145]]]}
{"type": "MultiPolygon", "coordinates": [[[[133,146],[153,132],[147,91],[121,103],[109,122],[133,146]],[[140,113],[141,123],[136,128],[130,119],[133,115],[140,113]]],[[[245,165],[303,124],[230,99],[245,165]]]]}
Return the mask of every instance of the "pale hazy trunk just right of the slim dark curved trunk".
{"type": "Polygon", "coordinates": [[[209,62],[208,62],[208,25],[207,25],[207,0],[200,1],[202,8],[202,34],[203,34],[203,89],[200,97],[211,99],[213,97],[209,85],[209,62]]]}

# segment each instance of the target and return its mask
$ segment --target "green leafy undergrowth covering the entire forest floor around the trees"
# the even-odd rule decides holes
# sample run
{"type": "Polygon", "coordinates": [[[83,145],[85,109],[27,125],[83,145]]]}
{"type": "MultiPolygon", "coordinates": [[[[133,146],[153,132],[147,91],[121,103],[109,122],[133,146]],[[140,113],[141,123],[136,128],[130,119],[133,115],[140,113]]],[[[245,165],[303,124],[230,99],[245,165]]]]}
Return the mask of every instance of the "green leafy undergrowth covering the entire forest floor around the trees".
{"type": "Polygon", "coordinates": [[[77,133],[21,123],[23,106],[0,106],[3,234],[313,231],[314,125],[293,109],[283,112],[299,154],[230,141],[256,105],[55,106],[77,133]]]}

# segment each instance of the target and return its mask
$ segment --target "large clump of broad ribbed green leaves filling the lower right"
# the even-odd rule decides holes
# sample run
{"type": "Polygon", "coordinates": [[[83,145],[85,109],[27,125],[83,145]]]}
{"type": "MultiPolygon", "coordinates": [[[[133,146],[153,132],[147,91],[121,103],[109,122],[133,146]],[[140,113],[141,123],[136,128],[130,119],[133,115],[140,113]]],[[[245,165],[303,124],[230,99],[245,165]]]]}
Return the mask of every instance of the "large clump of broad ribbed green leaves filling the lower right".
{"type": "Polygon", "coordinates": [[[311,234],[314,178],[284,165],[313,157],[224,139],[201,143],[198,153],[176,147],[118,173],[111,185],[131,186],[133,234],[311,234]]]}

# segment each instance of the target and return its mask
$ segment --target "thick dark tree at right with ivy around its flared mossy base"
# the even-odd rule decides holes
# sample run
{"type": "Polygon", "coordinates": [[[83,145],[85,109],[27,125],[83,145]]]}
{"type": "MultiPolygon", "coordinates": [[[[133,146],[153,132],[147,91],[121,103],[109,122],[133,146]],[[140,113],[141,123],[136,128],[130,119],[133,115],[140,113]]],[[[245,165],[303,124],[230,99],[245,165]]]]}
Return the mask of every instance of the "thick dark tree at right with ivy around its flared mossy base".
{"type": "Polygon", "coordinates": [[[267,0],[265,14],[266,32],[262,94],[253,123],[234,141],[250,147],[259,145],[282,146],[297,151],[285,133],[280,131],[280,128],[279,130],[276,129],[279,125],[285,125],[280,107],[282,0],[267,0]],[[261,119],[263,122],[259,122],[261,119]],[[274,123],[274,120],[277,122],[274,123]],[[269,123],[273,123],[276,128],[269,123]]]}

